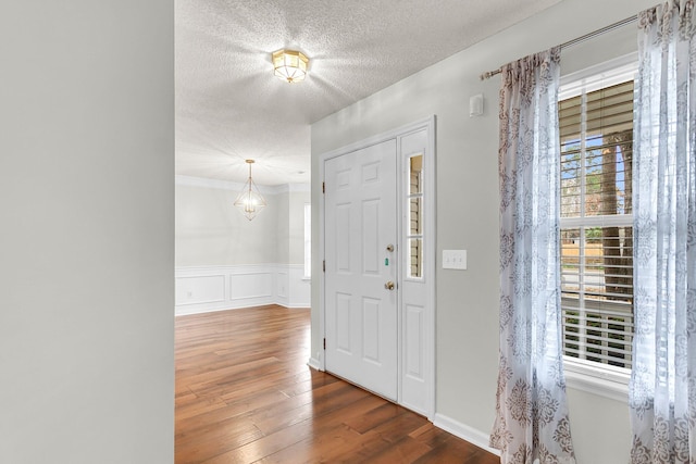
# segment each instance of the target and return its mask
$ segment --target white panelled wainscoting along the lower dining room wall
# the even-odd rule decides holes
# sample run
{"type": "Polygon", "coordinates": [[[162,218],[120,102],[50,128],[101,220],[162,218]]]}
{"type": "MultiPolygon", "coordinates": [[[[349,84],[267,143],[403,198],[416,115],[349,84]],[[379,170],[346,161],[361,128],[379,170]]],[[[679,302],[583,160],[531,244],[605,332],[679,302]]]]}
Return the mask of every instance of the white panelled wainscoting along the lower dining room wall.
{"type": "Polygon", "coordinates": [[[196,266],[175,269],[175,314],[279,304],[309,308],[310,283],[301,264],[196,266]]]}

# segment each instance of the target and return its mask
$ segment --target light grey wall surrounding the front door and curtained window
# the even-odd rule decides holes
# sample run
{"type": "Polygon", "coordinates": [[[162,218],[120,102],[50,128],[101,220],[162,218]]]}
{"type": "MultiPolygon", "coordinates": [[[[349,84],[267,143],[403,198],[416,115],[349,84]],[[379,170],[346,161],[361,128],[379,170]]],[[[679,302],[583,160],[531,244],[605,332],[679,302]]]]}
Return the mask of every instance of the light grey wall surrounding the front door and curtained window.
{"type": "MultiPolygon", "coordinates": [[[[654,0],[566,0],[312,126],[312,202],[319,204],[322,153],[431,114],[437,116],[437,263],[443,249],[469,250],[469,268],[437,271],[436,419],[461,435],[493,426],[498,361],[498,89],[485,71],[580,37],[649,8],[654,0]],[[485,114],[469,117],[469,98],[485,114]]],[[[570,73],[636,49],[636,26],[566,49],[570,73]]],[[[319,212],[313,212],[318,224],[319,212]]],[[[314,237],[318,228],[313,227],[314,237]]],[[[321,267],[313,246],[313,275],[321,267]]],[[[312,286],[312,351],[320,349],[319,283],[312,286]]],[[[625,402],[569,390],[580,464],[629,460],[625,402]]],[[[437,421],[436,421],[437,422],[437,421]]],[[[485,444],[485,443],[484,443],[485,444]]]]}

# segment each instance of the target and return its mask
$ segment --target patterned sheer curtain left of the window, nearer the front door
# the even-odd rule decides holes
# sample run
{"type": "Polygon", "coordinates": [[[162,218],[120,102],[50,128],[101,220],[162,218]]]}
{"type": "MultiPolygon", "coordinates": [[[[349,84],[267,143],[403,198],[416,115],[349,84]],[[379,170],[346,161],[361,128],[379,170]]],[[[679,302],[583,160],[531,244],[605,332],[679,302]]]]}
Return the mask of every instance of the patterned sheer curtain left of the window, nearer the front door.
{"type": "Polygon", "coordinates": [[[575,462],[559,313],[559,52],[502,68],[500,364],[490,436],[502,464],[575,462]]]}

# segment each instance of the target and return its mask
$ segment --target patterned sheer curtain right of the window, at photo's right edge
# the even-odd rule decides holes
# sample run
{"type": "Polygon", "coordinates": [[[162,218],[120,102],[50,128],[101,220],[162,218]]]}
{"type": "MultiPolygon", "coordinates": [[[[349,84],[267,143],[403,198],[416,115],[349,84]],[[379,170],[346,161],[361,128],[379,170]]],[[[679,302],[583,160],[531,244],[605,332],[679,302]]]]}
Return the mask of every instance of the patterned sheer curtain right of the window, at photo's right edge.
{"type": "Polygon", "coordinates": [[[632,463],[696,462],[694,1],[638,15],[632,463]]]}

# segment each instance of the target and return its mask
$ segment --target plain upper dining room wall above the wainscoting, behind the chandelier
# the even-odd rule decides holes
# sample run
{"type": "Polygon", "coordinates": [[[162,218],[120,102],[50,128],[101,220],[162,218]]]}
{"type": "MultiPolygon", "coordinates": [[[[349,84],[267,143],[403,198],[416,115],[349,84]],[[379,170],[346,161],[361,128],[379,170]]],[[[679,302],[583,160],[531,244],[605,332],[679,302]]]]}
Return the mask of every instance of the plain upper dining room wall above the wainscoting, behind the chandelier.
{"type": "Polygon", "coordinates": [[[302,264],[309,186],[260,186],[265,206],[247,220],[234,201],[241,184],[176,176],[176,266],[302,264]]]}

